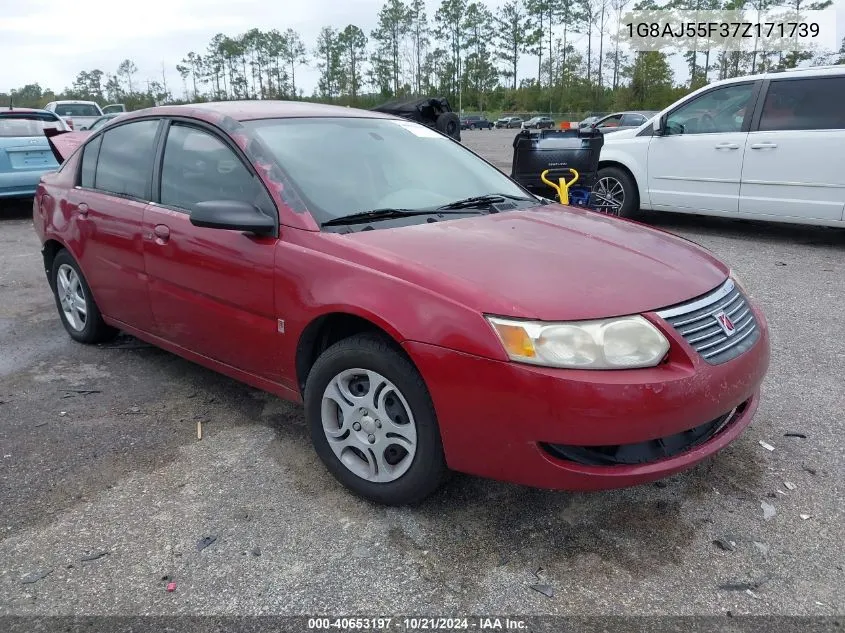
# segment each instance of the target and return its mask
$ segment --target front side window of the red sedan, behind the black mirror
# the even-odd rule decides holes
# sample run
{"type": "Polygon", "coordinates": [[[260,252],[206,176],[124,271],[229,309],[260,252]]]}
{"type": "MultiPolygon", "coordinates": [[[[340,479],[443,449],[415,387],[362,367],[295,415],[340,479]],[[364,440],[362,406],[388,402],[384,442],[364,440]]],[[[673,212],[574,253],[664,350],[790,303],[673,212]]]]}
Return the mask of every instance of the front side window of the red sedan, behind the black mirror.
{"type": "Polygon", "coordinates": [[[210,200],[249,202],[265,212],[270,202],[264,186],[228,145],[203,130],[174,124],[164,146],[161,204],[190,212],[210,200]]]}

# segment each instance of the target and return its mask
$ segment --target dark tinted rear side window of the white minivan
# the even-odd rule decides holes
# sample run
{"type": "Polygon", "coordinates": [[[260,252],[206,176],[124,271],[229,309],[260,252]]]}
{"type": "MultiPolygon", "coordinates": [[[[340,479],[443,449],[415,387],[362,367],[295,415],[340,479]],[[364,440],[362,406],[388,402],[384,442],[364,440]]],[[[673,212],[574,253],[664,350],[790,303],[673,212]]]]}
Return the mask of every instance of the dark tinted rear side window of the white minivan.
{"type": "Polygon", "coordinates": [[[845,129],[845,77],[772,81],[763,103],[760,130],[845,129]]]}

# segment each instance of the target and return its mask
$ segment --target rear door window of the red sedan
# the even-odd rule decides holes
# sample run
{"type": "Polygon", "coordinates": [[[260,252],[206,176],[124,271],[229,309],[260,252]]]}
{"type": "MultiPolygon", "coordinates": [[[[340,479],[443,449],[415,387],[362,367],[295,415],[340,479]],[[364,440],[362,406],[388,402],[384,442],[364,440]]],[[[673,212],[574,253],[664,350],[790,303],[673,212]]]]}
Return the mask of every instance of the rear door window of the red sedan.
{"type": "Polygon", "coordinates": [[[94,188],[149,200],[158,121],[127,123],[103,134],[94,188]]]}

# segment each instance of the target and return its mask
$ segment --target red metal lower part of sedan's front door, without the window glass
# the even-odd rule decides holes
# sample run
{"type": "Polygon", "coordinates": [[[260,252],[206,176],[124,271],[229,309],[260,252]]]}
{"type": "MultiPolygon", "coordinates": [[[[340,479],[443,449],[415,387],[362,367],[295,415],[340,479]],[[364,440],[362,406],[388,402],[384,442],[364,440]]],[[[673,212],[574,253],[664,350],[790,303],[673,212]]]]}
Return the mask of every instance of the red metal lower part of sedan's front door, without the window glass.
{"type": "Polygon", "coordinates": [[[275,239],[199,228],[181,211],[144,212],[156,333],[238,369],[278,380],[275,239]],[[164,231],[162,227],[167,227],[164,231]],[[163,233],[169,233],[164,238],[163,233]]]}

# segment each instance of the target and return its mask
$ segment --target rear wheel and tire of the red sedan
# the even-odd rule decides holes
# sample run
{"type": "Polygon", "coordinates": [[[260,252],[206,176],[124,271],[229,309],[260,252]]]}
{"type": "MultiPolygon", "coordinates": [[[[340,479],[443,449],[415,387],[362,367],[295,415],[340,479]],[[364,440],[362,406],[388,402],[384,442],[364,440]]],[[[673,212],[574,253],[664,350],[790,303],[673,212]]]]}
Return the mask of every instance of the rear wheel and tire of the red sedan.
{"type": "Polygon", "coordinates": [[[53,258],[50,285],[59,318],[74,341],[102,343],[117,336],[119,331],[103,321],[85,275],[67,250],[60,250],[53,258]]]}

